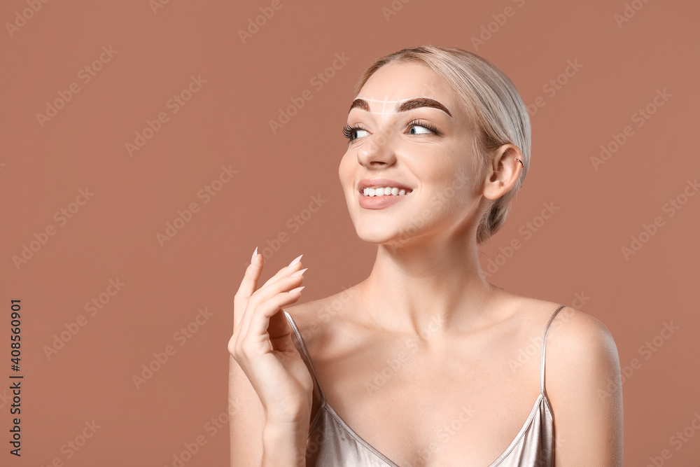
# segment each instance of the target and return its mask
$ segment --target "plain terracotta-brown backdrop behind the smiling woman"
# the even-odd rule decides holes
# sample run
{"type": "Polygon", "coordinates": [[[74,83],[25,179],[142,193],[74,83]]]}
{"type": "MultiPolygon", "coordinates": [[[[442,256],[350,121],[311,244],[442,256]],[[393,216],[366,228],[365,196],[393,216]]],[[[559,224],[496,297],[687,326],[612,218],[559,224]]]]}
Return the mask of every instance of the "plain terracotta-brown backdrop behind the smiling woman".
{"type": "Polygon", "coordinates": [[[0,389],[0,463],[172,466],[183,444],[201,436],[206,445],[185,465],[228,465],[227,424],[216,433],[207,424],[225,419],[232,298],[251,253],[285,232],[288,241],[267,251],[263,280],[304,253],[302,301],[367,276],[376,246],[356,237],[337,179],[352,88],[374,58],[433,44],[486,57],[526,104],[540,96],[545,102],[532,116],[531,172],[505,227],[484,246],[482,265],[512,239],[522,247],[490,280],[572,306],[576,293],[584,295],[579,308],[608,326],[621,365],[640,362],[623,384],[626,465],[645,466],[663,449],[671,453],[664,465],[698,465],[700,432],[689,428],[693,436],[680,449],[669,438],[700,413],[700,197],[687,198],[673,216],[663,207],[700,172],[699,6],[412,0],[395,1],[387,20],[389,0],[283,0],[243,43],[239,29],[269,5],[172,0],[154,13],[147,0],[49,1],[25,12],[25,23],[16,15],[30,8],[26,0],[0,7],[0,387],[14,373],[10,299],[22,300],[25,375],[21,460],[8,454],[10,391],[0,389]],[[507,6],[513,14],[496,28],[493,15],[507,6]],[[618,25],[615,15],[625,8],[635,14],[618,25]],[[15,21],[22,26],[10,36],[6,23],[15,21]],[[475,46],[472,37],[492,22],[496,32],[475,46]],[[117,52],[84,83],[80,69],[98,60],[103,46],[117,52]],[[350,60],[314,88],[311,78],[336,53],[350,60]],[[543,86],[568,60],[582,69],[548,95],[543,86]],[[190,76],[206,83],[172,113],[167,102],[190,76]],[[71,83],[80,91],[42,127],[36,114],[71,83]],[[273,134],[269,120],[304,90],[312,99],[273,134]],[[657,90],[671,97],[638,127],[633,114],[657,90]],[[125,144],[160,112],[167,123],[130,156],[125,144]],[[633,136],[596,170],[591,157],[626,125],[633,136]],[[205,204],[197,193],[222,166],[237,173],[205,204]],[[86,187],[94,195],[59,225],[55,212],[86,187]],[[314,195],[327,202],[293,230],[288,219],[303,214],[314,195]],[[200,211],[160,246],[156,234],[192,202],[200,211]],[[545,202],[559,210],[526,239],[526,223],[537,221],[545,202]],[[625,258],[621,248],[657,216],[664,225],[625,258]],[[48,225],[55,235],[16,267],[13,256],[48,225]],[[90,316],[85,304],[99,299],[110,279],[125,285],[102,295],[109,302],[90,316]],[[176,340],[204,307],[213,313],[208,321],[176,340]],[[80,315],[85,326],[49,358],[45,347],[80,315]],[[657,337],[671,321],[678,330],[657,337]],[[655,351],[640,353],[654,337],[655,351]],[[133,375],[168,345],[176,353],[137,389],[133,375]],[[67,459],[62,445],[93,420],[100,428],[67,459]]]}

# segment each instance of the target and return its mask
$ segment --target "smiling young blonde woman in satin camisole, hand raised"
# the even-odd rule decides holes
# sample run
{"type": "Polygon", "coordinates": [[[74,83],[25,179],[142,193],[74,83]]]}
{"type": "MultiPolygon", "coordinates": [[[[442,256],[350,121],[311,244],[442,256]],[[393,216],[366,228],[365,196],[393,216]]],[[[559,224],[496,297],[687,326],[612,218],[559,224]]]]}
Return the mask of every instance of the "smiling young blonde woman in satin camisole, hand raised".
{"type": "Polygon", "coordinates": [[[301,257],[258,288],[255,249],[228,344],[231,465],[622,466],[608,329],[479,267],[530,164],[510,79],[465,50],[400,50],[360,78],[344,133],[339,178],[374,267],[288,307],[301,257]]]}

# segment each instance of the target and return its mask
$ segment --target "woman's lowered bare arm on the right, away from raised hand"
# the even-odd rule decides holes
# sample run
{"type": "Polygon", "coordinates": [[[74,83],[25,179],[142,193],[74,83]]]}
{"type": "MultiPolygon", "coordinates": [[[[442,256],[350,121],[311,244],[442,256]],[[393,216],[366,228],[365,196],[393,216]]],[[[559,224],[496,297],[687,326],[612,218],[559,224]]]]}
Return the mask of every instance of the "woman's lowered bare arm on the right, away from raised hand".
{"type": "Polygon", "coordinates": [[[615,340],[594,316],[565,310],[552,321],[545,349],[554,466],[622,466],[622,379],[615,340]]]}

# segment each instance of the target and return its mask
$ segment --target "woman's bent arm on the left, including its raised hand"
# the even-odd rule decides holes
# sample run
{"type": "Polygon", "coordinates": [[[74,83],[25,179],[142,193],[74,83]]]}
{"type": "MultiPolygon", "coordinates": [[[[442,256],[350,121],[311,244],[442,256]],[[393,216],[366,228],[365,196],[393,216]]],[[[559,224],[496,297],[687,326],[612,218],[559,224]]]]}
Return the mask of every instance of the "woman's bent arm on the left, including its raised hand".
{"type": "Polygon", "coordinates": [[[234,297],[228,342],[232,466],[305,466],[313,386],[281,307],[300,298],[301,256],[258,288],[255,249],[234,297]]]}

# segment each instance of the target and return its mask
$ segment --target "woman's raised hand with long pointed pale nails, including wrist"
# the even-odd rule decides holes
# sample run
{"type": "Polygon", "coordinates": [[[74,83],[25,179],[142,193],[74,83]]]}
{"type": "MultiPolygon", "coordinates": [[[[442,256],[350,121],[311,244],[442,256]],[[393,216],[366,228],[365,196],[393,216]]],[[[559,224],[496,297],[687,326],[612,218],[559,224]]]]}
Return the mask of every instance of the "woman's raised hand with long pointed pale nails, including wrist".
{"type": "Polygon", "coordinates": [[[300,269],[301,257],[256,290],[265,263],[256,248],[234,298],[228,351],[258,393],[266,424],[304,424],[311,415],[314,382],[294,347],[291,327],[281,309],[301,296],[306,270],[300,269]]]}

